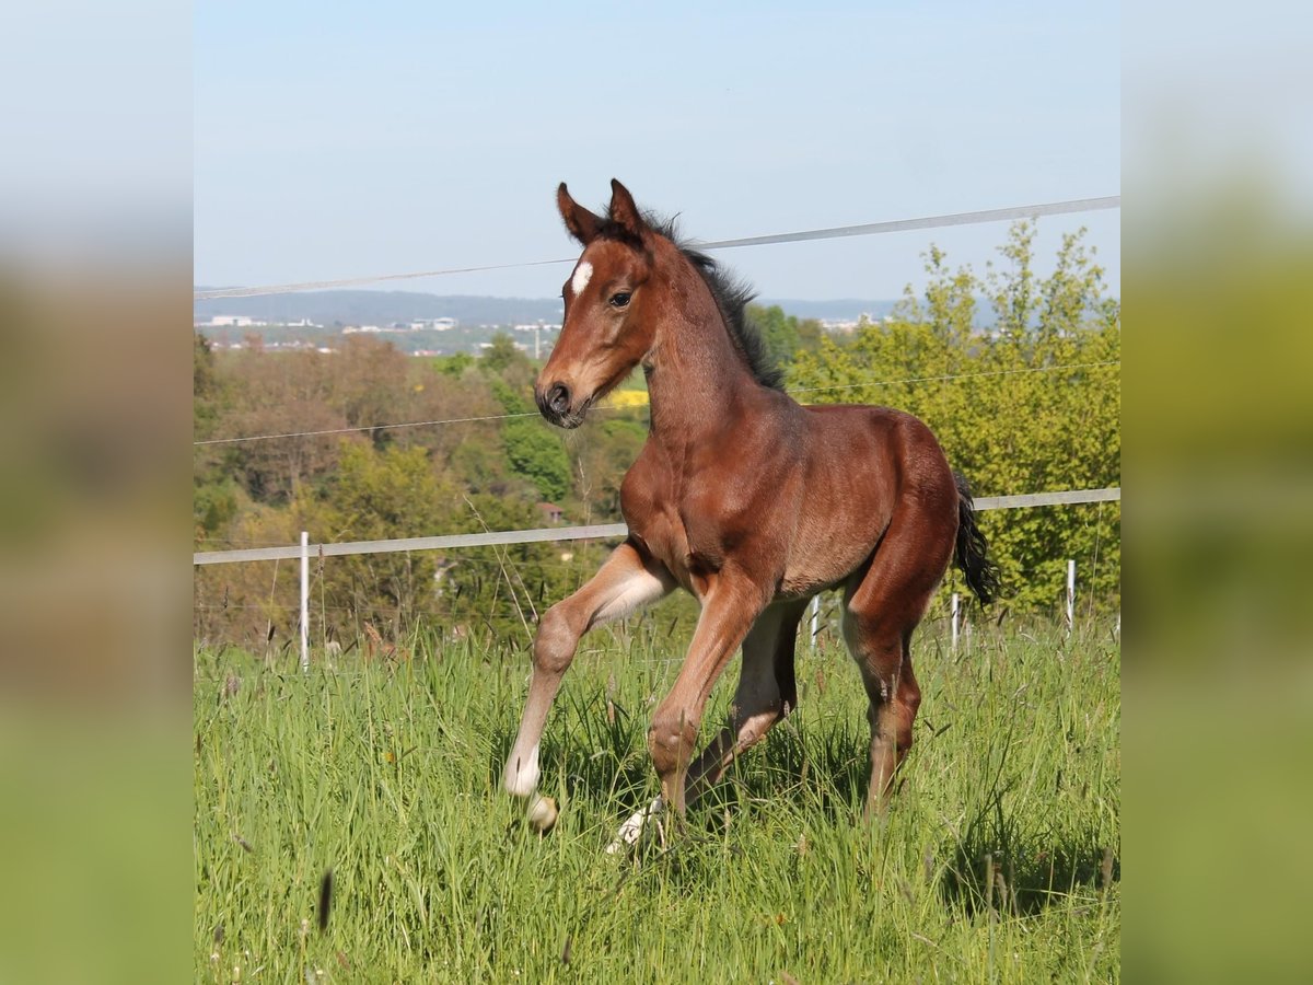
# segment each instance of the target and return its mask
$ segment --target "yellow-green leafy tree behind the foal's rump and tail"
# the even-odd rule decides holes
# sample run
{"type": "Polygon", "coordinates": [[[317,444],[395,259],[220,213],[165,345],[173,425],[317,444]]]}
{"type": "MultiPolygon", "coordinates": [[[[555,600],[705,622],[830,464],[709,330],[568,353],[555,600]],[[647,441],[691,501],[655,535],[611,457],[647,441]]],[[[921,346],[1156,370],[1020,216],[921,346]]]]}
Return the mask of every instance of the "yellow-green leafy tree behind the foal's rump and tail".
{"type": "MultiPolygon", "coordinates": [[[[1006,263],[985,280],[949,269],[931,247],[923,296],[909,290],[890,322],[800,355],[790,387],[915,414],[977,495],[1119,485],[1120,309],[1082,236],[1064,239],[1045,278],[1033,271],[1031,223],[1011,229],[999,251],[1006,263]],[[982,297],[989,328],[979,324],[982,297]]],[[[1067,558],[1092,598],[1117,604],[1117,504],[987,512],[981,523],[1010,604],[1053,611],[1067,558]]]]}

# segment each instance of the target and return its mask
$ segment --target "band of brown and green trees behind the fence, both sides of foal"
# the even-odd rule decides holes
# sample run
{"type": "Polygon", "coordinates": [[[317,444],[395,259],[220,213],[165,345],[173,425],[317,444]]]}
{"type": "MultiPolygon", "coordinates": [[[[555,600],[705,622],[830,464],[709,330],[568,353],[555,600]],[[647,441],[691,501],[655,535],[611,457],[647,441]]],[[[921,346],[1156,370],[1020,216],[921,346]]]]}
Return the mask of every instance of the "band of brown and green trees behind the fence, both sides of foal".
{"type": "MultiPolygon", "coordinates": [[[[1081,234],[1064,238],[1046,277],[1035,272],[1033,240],[1033,225],[1012,226],[985,276],[952,269],[931,247],[924,290],[909,289],[890,318],[851,334],[779,307],[750,315],[797,399],[916,414],[978,495],[1119,485],[1120,306],[1081,234]]],[[[257,339],[215,352],[197,334],[196,440],[263,439],[196,447],[197,549],[286,545],[302,529],[330,542],[532,528],[549,525],[553,507],[570,524],[620,520],[646,407],[625,401],[557,431],[536,414],[536,372],[507,335],[479,357],[415,359],[358,335],[319,353],[264,351],[257,339]]],[[[642,389],[641,376],[625,387],[642,389]]],[[[1007,605],[1052,611],[1069,557],[1094,604],[1119,604],[1116,503],[990,512],[982,525],[1007,605]]],[[[576,541],[316,562],[312,638],[347,649],[423,623],[521,645],[537,613],[608,549],[576,541]]],[[[297,587],[286,565],[198,567],[196,636],[277,649],[297,634],[297,587]]],[[[678,603],[656,623],[674,632],[693,617],[678,603]]]]}

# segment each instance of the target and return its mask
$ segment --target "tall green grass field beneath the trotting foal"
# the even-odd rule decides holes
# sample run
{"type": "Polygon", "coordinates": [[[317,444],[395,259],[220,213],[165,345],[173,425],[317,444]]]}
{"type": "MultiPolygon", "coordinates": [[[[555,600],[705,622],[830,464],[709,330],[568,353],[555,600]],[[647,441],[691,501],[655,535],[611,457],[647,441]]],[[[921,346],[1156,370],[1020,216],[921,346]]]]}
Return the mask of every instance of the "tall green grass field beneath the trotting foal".
{"type": "Polygon", "coordinates": [[[561,822],[538,838],[498,789],[528,657],[412,642],[404,661],[349,654],[309,675],[197,653],[198,981],[1120,977],[1107,626],[981,632],[956,655],[920,636],[916,746],[877,825],[860,820],[856,668],[804,654],[797,712],[632,859],[603,848],[656,792],[647,716],[676,651],[584,641],[544,739],[561,822]]]}

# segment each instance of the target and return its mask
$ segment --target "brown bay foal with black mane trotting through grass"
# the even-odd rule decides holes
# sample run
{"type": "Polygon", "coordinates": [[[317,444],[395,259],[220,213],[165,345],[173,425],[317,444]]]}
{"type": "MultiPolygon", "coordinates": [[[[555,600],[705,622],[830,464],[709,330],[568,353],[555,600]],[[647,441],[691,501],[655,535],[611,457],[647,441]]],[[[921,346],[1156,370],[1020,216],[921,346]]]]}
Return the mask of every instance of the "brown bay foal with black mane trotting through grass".
{"type": "Polygon", "coordinates": [[[843,634],[871,701],[867,812],[885,806],[913,741],[920,691],[910,642],[955,553],[989,602],[970,492],[922,422],[888,407],[802,407],[780,389],[744,323],[748,294],[705,256],[679,246],[612,181],[605,217],[557,202],[583,253],[565,284],[565,324],[534,395],[554,424],[578,427],[635,365],[647,376],[647,443],[621,486],[629,537],[597,574],[548,609],[504,783],[546,831],[538,742],[579,638],[676,587],[701,616],[647,742],[660,797],[625,822],[685,805],[739,753],[797,707],[794,640],[809,599],[843,587],[843,634]],[[742,646],[727,728],[689,762],[712,687],[742,646]]]}

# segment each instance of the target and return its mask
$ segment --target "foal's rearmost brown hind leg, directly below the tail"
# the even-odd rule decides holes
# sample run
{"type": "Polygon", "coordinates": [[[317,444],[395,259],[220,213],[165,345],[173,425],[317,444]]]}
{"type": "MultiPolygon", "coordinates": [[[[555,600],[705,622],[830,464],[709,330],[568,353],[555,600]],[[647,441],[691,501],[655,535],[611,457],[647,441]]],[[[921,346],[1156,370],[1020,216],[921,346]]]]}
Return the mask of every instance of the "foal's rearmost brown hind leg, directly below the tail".
{"type": "Polygon", "coordinates": [[[843,636],[871,705],[871,788],[867,816],[884,813],[894,772],[911,749],[920,688],[911,668],[911,634],[952,554],[952,533],[927,536],[894,517],[871,567],[848,587],[843,636]]]}

